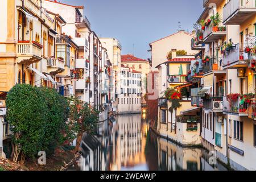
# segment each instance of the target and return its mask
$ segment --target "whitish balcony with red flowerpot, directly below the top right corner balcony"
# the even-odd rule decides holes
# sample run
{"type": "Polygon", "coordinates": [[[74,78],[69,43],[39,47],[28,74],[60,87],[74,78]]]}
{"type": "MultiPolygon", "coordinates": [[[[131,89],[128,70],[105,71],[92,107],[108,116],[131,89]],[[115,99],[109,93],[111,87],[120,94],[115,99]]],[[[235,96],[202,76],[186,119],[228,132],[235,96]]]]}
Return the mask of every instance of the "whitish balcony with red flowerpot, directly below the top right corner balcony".
{"type": "Polygon", "coordinates": [[[235,44],[224,52],[223,67],[224,68],[246,68],[248,67],[248,54],[242,51],[240,44],[235,44]]]}

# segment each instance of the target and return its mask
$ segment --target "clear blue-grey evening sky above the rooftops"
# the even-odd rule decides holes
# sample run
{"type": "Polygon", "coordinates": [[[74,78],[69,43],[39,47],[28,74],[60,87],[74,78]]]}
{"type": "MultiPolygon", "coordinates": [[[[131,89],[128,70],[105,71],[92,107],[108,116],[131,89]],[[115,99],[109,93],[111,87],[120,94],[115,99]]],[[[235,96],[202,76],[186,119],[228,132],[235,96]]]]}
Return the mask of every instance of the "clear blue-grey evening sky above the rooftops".
{"type": "Polygon", "coordinates": [[[91,28],[99,37],[117,38],[122,55],[150,58],[149,43],[181,30],[192,31],[203,12],[202,0],[57,0],[84,5],[91,28]]]}

